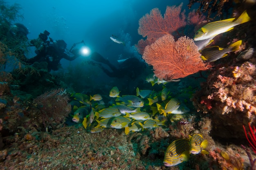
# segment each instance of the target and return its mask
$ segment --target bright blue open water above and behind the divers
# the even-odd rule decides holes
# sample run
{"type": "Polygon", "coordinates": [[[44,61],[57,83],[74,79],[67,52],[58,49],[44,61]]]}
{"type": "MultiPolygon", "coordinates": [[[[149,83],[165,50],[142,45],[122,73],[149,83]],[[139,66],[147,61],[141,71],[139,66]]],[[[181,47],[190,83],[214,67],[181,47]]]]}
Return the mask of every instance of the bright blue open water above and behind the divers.
{"type": "MultiPolygon", "coordinates": [[[[20,23],[29,29],[30,40],[44,30],[53,40],[65,40],[67,49],[81,40],[109,60],[121,57],[140,57],[134,48],[138,40],[139,19],[153,8],[164,14],[166,6],[179,5],[182,1],[167,0],[9,0],[21,5],[24,20],[20,23]],[[125,38],[128,43],[120,46],[110,40],[111,35],[125,38]]],[[[186,4],[187,2],[184,2],[186,4]]],[[[188,9],[185,5],[184,9],[188,9]]],[[[33,50],[29,53],[33,57],[33,50]]],[[[81,59],[80,59],[81,60],[81,59]]],[[[79,63],[79,59],[72,65],[79,63]]],[[[70,62],[61,61],[65,68],[70,62]]]]}

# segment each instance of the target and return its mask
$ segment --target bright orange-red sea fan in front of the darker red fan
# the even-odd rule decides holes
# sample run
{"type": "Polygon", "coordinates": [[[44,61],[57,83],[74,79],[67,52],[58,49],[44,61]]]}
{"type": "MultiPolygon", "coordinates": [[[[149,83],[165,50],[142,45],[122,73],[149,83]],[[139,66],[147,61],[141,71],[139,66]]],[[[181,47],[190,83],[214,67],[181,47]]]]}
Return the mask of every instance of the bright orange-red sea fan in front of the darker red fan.
{"type": "Polygon", "coordinates": [[[173,35],[164,35],[146,46],[142,58],[153,66],[159,79],[166,81],[186,77],[210,67],[202,62],[194,41],[186,36],[175,42],[173,35]]]}

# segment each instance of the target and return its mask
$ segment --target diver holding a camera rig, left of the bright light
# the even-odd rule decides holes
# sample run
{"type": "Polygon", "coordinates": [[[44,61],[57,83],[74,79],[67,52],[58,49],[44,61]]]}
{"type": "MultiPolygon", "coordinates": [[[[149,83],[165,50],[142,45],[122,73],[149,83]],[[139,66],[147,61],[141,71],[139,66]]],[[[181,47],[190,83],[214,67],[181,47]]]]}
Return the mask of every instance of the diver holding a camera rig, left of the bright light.
{"type": "Polygon", "coordinates": [[[57,71],[61,66],[61,59],[66,59],[69,61],[75,60],[80,56],[80,52],[78,49],[74,49],[74,45],[69,51],[65,51],[67,44],[64,40],[53,41],[52,38],[49,38],[48,31],[44,31],[38,35],[37,39],[31,40],[31,46],[35,46],[35,53],[37,54],[33,58],[29,58],[24,60],[28,64],[34,64],[34,62],[47,62],[48,72],[51,70],[57,71]],[[73,56],[70,56],[70,53],[73,56]]]}

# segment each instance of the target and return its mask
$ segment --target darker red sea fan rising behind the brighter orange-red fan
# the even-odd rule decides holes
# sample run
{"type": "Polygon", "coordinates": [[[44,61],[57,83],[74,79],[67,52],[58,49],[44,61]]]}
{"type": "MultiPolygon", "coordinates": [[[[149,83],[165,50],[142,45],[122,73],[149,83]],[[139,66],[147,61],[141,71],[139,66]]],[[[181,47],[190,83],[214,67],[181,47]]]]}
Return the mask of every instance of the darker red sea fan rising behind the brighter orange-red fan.
{"type": "Polygon", "coordinates": [[[180,36],[193,36],[193,28],[195,25],[200,25],[204,21],[204,15],[198,15],[195,11],[191,11],[188,17],[185,11],[182,11],[181,3],[178,7],[166,7],[164,18],[158,8],[152,9],[150,14],[144,15],[139,20],[138,33],[146,40],[139,40],[136,44],[138,52],[142,55],[147,45],[155,42],[157,38],[166,34],[171,34],[177,40],[180,36]]]}

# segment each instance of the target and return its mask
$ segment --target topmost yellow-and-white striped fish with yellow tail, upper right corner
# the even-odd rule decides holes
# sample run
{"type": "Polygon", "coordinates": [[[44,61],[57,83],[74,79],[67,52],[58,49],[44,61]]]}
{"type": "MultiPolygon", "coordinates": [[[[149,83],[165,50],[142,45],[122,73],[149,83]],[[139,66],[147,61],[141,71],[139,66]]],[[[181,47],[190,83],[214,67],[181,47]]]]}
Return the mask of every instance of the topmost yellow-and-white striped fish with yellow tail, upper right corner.
{"type": "Polygon", "coordinates": [[[215,37],[220,33],[225,33],[234,29],[234,26],[236,25],[243,24],[251,20],[246,10],[240,15],[240,17],[238,17],[237,20],[235,19],[236,18],[229,18],[226,20],[210,22],[204,25],[195,33],[194,40],[198,41],[215,37]]]}

